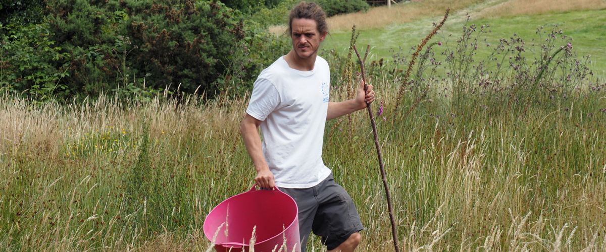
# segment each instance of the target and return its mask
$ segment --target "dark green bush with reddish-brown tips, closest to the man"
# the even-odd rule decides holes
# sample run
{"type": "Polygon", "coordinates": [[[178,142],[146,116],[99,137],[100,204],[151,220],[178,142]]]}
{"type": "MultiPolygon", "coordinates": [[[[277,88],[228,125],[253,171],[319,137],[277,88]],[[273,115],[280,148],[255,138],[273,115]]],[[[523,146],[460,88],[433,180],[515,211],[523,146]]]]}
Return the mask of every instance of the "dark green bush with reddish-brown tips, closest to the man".
{"type": "MultiPolygon", "coordinates": [[[[126,2],[126,1],[125,1],[126,2]]],[[[170,1],[169,1],[170,2],[170,1]]],[[[181,83],[181,90],[193,92],[201,86],[211,91],[215,80],[226,71],[228,57],[244,39],[244,27],[233,10],[214,2],[184,1],[177,4],[124,4],[132,22],[126,25],[135,44],[135,68],[151,73],[158,88],[181,83]]]]}

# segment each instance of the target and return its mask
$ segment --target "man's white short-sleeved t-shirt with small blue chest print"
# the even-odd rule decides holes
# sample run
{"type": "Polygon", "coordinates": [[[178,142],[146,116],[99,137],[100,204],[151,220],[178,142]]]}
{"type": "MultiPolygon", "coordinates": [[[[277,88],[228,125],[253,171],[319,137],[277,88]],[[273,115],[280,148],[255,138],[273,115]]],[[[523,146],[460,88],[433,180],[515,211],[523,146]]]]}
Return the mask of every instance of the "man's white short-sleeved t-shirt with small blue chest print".
{"type": "Polygon", "coordinates": [[[246,112],[261,123],[263,154],[276,186],[309,188],[330,175],[322,161],[330,69],[316,57],[299,71],[280,57],[255,81],[246,112]]]}

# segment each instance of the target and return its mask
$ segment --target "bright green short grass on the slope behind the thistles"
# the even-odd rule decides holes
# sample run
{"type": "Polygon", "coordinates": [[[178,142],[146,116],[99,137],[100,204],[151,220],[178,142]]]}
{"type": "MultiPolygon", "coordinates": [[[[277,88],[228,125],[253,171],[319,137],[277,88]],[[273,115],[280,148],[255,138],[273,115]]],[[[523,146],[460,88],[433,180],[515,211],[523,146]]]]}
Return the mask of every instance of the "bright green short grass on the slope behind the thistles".
{"type": "MultiPolygon", "coordinates": [[[[456,16],[456,14],[455,14],[456,16]]],[[[363,30],[358,38],[358,45],[370,44],[372,60],[384,58],[392,60],[393,50],[398,51],[402,47],[402,52],[408,54],[409,48],[414,47],[423,39],[433,28],[433,22],[439,22],[440,16],[431,19],[422,19],[421,21],[390,25],[384,29],[363,30]],[[392,51],[390,51],[392,50],[392,51]]],[[[443,36],[448,37],[452,34],[450,40],[456,40],[461,36],[462,26],[465,19],[460,15],[451,18],[442,28],[442,33],[436,34],[431,41],[445,41],[443,36]],[[453,22],[453,20],[456,20],[453,22]]],[[[501,38],[512,37],[517,34],[525,40],[527,47],[540,49],[540,44],[532,47],[532,39],[538,39],[536,28],[544,27],[550,31],[553,25],[558,25],[559,29],[564,31],[565,35],[573,37],[574,52],[578,57],[591,55],[594,73],[606,76],[606,10],[590,11],[571,11],[568,13],[553,13],[533,16],[518,16],[514,18],[494,18],[494,19],[474,19],[471,16],[469,24],[489,24],[491,33],[485,33],[484,38],[487,43],[494,46],[499,43],[501,38]]],[[[347,53],[351,33],[338,31],[332,33],[324,42],[324,49],[336,49],[347,53]]],[[[536,43],[536,41],[534,42],[536,43]]],[[[444,45],[442,46],[444,47],[444,45]]],[[[444,51],[443,48],[435,47],[438,52],[444,51]]],[[[481,47],[476,59],[484,59],[490,50],[487,47],[481,47]]],[[[531,51],[526,54],[527,59],[534,59],[531,51]]],[[[438,58],[439,59],[439,58],[438,58]]]]}

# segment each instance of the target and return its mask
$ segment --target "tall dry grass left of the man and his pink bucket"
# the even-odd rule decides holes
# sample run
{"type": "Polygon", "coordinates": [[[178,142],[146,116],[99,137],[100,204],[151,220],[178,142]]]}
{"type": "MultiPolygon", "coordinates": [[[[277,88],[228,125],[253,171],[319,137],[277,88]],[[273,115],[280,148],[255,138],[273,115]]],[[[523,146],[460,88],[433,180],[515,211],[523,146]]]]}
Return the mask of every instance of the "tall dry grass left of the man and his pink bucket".
{"type": "MultiPolygon", "coordinates": [[[[187,204],[185,210],[181,207],[185,202],[174,196],[179,185],[172,179],[182,178],[179,182],[198,176],[217,179],[210,175],[212,173],[221,179],[229,177],[224,173],[228,167],[221,151],[210,153],[205,147],[219,144],[219,149],[225,146],[235,150],[239,127],[224,123],[237,121],[243,112],[225,108],[243,105],[233,106],[238,101],[220,100],[212,103],[215,105],[204,106],[191,98],[179,103],[155,99],[143,104],[124,103],[101,95],[95,101],[85,100],[81,104],[33,105],[4,95],[0,99],[0,248],[5,251],[205,250],[207,242],[201,231],[202,222],[211,205],[223,199],[222,187],[239,191],[250,183],[243,186],[238,178],[233,182],[239,183],[239,187],[229,186],[232,183],[211,187],[213,183],[209,180],[210,184],[200,184],[199,189],[215,193],[187,198],[191,204],[187,204]],[[135,203],[134,210],[130,210],[132,207],[126,199],[129,177],[141,152],[145,121],[149,124],[150,152],[155,154],[149,168],[156,170],[155,179],[159,179],[156,181],[161,179],[158,186],[168,189],[159,190],[166,199],[162,201],[165,209],[153,213],[166,222],[151,227],[151,233],[146,233],[142,222],[145,205],[135,203]],[[210,139],[225,141],[207,142],[210,139]],[[185,141],[203,144],[190,149],[191,144],[182,144],[185,141]],[[173,156],[175,153],[195,155],[202,163],[185,166],[184,160],[173,156]],[[215,169],[210,169],[214,172],[188,173],[198,166],[215,169]],[[178,228],[187,231],[177,231],[178,228]]],[[[219,149],[213,147],[213,150],[219,149]]],[[[182,193],[196,194],[190,189],[182,193]]]]}

